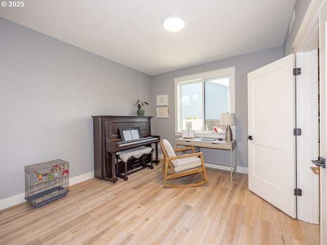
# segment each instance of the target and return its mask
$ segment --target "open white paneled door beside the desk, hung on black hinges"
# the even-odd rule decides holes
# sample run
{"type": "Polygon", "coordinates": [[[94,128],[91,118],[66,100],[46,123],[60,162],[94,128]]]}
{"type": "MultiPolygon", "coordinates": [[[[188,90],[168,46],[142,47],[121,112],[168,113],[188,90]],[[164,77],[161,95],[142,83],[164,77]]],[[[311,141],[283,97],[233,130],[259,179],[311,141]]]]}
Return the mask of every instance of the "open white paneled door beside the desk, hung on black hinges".
{"type": "Polygon", "coordinates": [[[249,190],[296,217],[294,54],[248,74],[249,190]]]}

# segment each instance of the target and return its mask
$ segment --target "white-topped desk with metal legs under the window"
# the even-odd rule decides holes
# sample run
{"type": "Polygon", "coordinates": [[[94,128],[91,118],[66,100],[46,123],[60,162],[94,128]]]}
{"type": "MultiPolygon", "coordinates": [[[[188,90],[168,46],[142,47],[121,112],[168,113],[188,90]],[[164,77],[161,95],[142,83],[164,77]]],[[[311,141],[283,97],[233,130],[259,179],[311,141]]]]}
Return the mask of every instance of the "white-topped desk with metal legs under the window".
{"type": "Polygon", "coordinates": [[[179,138],[176,139],[176,148],[178,148],[178,145],[230,151],[230,181],[233,181],[233,173],[236,172],[236,165],[237,165],[236,164],[236,160],[237,160],[236,140],[226,141],[226,140],[216,139],[215,141],[205,141],[205,140],[201,140],[201,138],[193,138],[193,139],[179,138]],[[235,149],[235,166],[233,165],[234,149],[235,149]]]}

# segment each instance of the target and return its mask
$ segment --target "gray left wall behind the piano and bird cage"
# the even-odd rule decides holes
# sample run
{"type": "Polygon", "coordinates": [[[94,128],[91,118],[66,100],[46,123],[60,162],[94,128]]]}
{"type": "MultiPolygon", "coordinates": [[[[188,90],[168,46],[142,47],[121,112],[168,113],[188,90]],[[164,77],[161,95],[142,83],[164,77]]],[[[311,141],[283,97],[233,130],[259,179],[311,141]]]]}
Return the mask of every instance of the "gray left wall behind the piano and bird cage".
{"type": "Polygon", "coordinates": [[[60,158],[71,178],[93,171],[91,116],[135,115],[152,97],[139,71],[3,18],[0,30],[2,200],[24,193],[25,165],[60,158]]]}

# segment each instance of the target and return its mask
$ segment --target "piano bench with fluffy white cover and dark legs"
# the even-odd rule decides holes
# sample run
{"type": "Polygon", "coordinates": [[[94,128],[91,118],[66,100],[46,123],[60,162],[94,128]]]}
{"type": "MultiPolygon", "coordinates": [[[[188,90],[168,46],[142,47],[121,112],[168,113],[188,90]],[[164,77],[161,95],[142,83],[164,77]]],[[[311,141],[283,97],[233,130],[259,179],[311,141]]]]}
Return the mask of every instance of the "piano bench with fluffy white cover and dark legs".
{"type": "MultiPolygon", "coordinates": [[[[134,149],[122,151],[122,152],[116,152],[115,157],[116,157],[116,176],[124,179],[125,181],[128,180],[127,175],[133,173],[134,171],[141,170],[145,167],[150,167],[153,169],[153,160],[152,160],[152,154],[153,154],[153,149],[151,147],[147,146],[140,146],[134,149]],[[141,155],[142,154],[142,155],[141,155]],[[151,159],[151,165],[148,165],[145,163],[145,155],[150,155],[151,159]],[[143,164],[142,167],[139,167],[135,170],[129,171],[128,173],[128,160],[133,160],[133,159],[138,159],[138,158],[143,158],[143,164]],[[120,163],[125,163],[125,172],[124,174],[119,173],[119,164],[120,163]]],[[[141,161],[140,161],[141,162],[141,161]]]]}

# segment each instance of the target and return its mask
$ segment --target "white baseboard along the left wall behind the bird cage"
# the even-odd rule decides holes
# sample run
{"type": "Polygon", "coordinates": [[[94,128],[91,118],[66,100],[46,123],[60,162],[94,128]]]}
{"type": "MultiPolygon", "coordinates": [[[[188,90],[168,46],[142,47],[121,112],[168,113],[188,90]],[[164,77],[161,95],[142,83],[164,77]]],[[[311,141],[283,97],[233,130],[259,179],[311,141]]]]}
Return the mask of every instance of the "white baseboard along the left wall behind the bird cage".
{"type": "MultiPolygon", "coordinates": [[[[73,178],[69,178],[69,185],[75,185],[77,183],[92,178],[94,178],[94,171],[73,178]]],[[[26,202],[24,198],[25,198],[25,193],[20,193],[18,195],[13,195],[12,197],[2,199],[0,200],[0,210],[9,208],[11,206],[15,206],[20,203],[24,203],[26,202]]]]}

